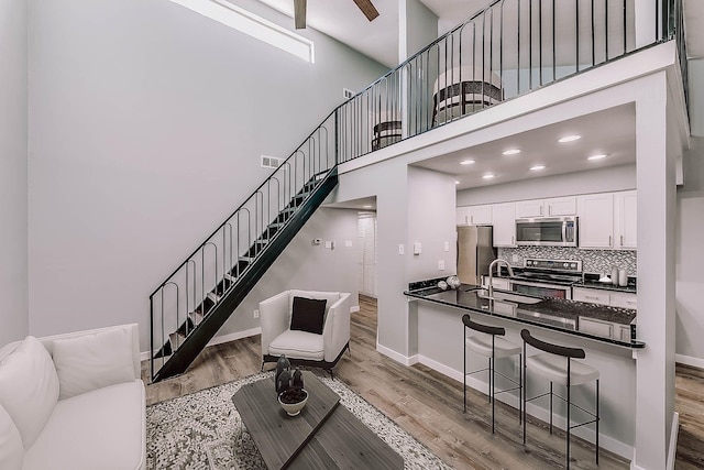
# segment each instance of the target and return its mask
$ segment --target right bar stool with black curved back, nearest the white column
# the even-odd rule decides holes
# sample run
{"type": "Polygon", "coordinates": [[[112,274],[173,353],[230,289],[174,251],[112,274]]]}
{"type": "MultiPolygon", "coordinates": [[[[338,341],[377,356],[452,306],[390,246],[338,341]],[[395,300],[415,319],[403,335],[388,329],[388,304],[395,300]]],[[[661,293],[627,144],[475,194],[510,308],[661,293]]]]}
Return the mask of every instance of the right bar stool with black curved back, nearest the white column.
{"type": "MultiPolygon", "coordinates": [[[[576,359],[584,359],[586,354],[581,348],[570,348],[566,346],[553,345],[534,338],[530,336],[530,331],[524,329],[520,331],[520,337],[524,340],[524,415],[526,413],[526,403],[531,400],[537,400],[546,395],[550,395],[550,434],[552,434],[552,396],[557,396],[568,404],[566,406],[566,468],[570,468],[570,429],[575,427],[585,426],[587,424],[595,424],[596,427],[596,464],[598,464],[598,370],[578,361],[576,359]],[[536,349],[544,351],[531,357],[526,356],[526,343],[532,346],[536,349]],[[536,375],[540,375],[543,379],[550,381],[550,392],[534,396],[532,398],[526,397],[526,382],[528,371],[531,371],[536,375]],[[570,400],[570,390],[572,386],[582,385],[592,381],[596,381],[596,408],[594,413],[584,409],[583,407],[575,405],[570,400]],[[566,398],[552,392],[552,384],[558,383],[566,387],[566,398]],[[570,422],[570,408],[576,406],[594,419],[572,425],[570,422]]],[[[526,416],[524,416],[524,444],[526,444],[526,416]]]]}

